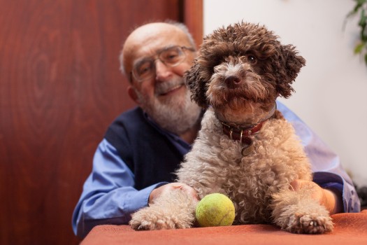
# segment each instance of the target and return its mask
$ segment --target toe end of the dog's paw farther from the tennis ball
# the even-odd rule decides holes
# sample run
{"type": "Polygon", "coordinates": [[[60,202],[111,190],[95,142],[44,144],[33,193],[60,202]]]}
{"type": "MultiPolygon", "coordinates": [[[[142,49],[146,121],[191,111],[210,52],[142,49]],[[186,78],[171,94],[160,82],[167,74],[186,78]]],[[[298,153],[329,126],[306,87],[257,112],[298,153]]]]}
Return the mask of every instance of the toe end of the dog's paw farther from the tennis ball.
{"type": "Polygon", "coordinates": [[[289,217],[283,229],[292,233],[322,234],[333,230],[333,222],[329,215],[296,213],[289,217]]]}

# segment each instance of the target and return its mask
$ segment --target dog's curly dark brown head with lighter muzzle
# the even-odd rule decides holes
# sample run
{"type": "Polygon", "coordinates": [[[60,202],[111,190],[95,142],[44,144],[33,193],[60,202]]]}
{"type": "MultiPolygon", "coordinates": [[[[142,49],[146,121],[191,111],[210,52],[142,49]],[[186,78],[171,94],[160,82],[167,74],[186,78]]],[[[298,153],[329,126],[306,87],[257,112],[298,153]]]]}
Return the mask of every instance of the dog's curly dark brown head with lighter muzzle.
{"type": "Polygon", "coordinates": [[[260,103],[266,109],[278,96],[291,95],[303,65],[293,45],[282,45],[264,26],[243,22],[206,36],[185,78],[203,108],[260,103]]]}

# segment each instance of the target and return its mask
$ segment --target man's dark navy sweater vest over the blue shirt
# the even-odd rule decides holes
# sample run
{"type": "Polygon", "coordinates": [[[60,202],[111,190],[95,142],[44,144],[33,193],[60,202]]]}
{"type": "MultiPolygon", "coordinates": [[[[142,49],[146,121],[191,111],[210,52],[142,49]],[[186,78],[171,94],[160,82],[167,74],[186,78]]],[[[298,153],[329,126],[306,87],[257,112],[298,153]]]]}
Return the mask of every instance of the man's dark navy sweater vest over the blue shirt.
{"type": "Polygon", "coordinates": [[[183,156],[136,107],[118,116],[105,139],[112,144],[135,176],[137,190],[158,182],[173,182],[183,156]]]}

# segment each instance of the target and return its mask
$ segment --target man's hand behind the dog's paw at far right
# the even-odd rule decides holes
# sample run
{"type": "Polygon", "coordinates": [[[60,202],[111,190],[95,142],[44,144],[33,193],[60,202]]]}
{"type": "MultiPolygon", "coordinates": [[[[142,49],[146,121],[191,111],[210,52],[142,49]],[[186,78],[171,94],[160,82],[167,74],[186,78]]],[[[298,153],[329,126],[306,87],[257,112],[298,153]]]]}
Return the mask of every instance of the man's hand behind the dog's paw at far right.
{"type": "Polygon", "coordinates": [[[303,188],[311,190],[312,198],[319,202],[319,204],[326,207],[330,214],[338,214],[343,211],[342,197],[334,193],[332,190],[323,189],[315,182],[301,179],[292,181],[291,186],[295,191],[303,188]]]}

